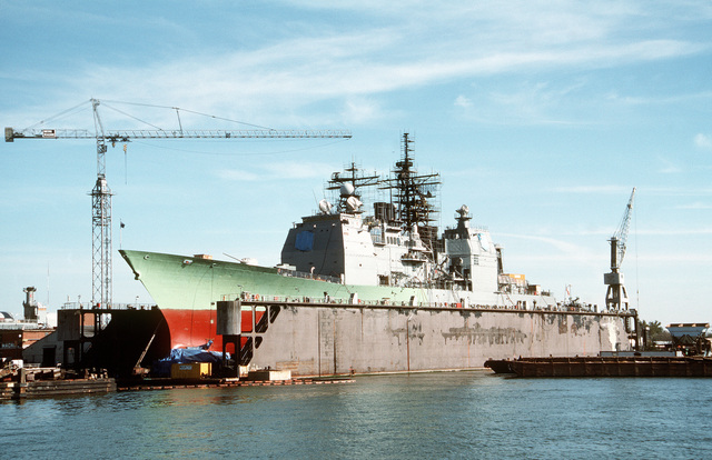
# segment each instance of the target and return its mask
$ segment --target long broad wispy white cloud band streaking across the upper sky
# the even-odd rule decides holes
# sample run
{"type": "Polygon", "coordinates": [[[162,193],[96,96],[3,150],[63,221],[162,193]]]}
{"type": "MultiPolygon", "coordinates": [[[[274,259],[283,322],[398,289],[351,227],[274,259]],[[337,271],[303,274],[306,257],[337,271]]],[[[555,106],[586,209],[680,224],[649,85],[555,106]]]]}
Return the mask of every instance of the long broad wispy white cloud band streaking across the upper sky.
{"type": "MultiPolygon", "coordinates": [[[[415,4],[414,16],[419,20],[409,19],[409,23],[390,21],[390,27],[383,27],[379,22],[357,32],[315,30],[312,37],[287,37],[249,50],[208,49],[201,56],[174,56],[172,60],[135,68],[92,62],[79,72],[72,69],[65,84],[77,93],[179,103],[238,119],[248,114],[256,123],[275,122],[277,117],[277,123],[288,118],[296,124],[308,123],[291,113],[318,101],[347,99],[343,116],[349,122],[359,122],[377,112],[378,106],[349,99],[355,96],[372,97],[477,76],[630,66],[701,50],[694,42],[664,36],[637,40],[617,37],[616,27],[625,19],[645,19],[626,9],[566,8],[561,3],[551,8],[523,2],[506,11],[455,3],[441,10],[415,4]],[[432,20],[424,22],[423,17],[432,20]]],[[[46,79],[56,81],[57,77],[48,74],[46,79]]],[[[544,102],[553,96],[538,93],[544,102]]],[[[457,98],[456,104],[467,103],[465,96],[457,98]]]]}

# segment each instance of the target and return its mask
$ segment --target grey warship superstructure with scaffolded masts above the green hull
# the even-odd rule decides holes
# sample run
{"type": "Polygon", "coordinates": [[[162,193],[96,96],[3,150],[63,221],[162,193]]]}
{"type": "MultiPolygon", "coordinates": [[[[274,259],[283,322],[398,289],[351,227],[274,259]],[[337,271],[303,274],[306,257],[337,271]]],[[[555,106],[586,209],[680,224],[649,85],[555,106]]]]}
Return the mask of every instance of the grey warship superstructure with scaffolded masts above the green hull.
{"type": "Polygon", "coordinates": [[[502,248],[484,227],[472,227],[469,209],[456,210],[456,227],[438,237],[434,206],[438,173],[414,167],[412,139],[403,134],[403,156],[390,177],[359,176],[354,163],[334,173],[314,216],[289,230],[283,268],[345,284],[426,289],[426,302],[490,307],[553,306],[555,300],[521,274],[503,272],[502,248]],[[366,188],[386,190],[392,201],[362,202],[366,188]]]}

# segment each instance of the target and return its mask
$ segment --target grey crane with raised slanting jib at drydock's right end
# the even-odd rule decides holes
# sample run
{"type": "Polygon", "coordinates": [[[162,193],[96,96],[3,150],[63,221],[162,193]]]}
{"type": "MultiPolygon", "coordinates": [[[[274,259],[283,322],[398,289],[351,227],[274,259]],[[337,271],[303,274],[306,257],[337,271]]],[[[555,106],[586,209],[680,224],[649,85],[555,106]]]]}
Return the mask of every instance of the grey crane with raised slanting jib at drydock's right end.
{"type": "Polygon", "coordinates": [[[609,310],[627,310],[629,299],[625,291],[625,283],[623,273],[621,273],[621,264],[625,257],[625,243],[627,241],[627,232],[631,227],[631,216],[633,213],[633,200],[635,199],[635,187],[631,192],[631,199],[627,201],[625,212],[621,224],[613,237],[609,240],[611,242],[611,272],[603,274],[603,282],[609,287],[605,294],[605,306],[609,310]]]}

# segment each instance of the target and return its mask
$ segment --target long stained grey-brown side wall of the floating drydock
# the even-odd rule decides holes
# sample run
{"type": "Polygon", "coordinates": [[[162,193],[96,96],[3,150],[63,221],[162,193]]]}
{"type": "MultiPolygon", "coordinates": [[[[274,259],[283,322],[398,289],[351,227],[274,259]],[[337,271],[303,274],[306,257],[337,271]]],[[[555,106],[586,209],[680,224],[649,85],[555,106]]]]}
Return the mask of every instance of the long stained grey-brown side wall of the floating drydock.
{"type": "Polygon", "coordinates": [[[251,366],[295,376],[472,369],[493,359],[629,350],[624,318],[604,313],[283,307],[251,366]]]}

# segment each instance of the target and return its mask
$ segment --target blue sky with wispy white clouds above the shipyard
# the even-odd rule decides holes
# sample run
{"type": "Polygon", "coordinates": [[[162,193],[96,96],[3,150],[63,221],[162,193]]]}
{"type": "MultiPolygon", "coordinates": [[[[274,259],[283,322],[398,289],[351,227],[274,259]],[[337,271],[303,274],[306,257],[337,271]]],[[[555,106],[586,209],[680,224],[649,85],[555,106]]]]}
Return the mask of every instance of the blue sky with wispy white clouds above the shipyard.
{"type": "MultiPolygon", "coordinates": [[[[107,129],[177,128],[147,107],[162,106],[218,117],[181,112],[184,128],[350,130],[109,149],[115,252],[261,264],[330,172],[387,171],[407,131],[419,169],[442,174],[442,227],[467,204],[506,271],[599,306],[636,187],[632,306],[712,321],[709,1],[383,3],[0,0],[0,121],[93,130],[88,102],[52,117],[97,98],[107,129]]],[[[50,310],[90,299],[95,180],[91,140],[1,144],[0,310],[20,313],[27,286],[50,310]]],[[[113,272],[115,301],[151,301],[118,254],[113,272]]]]}

